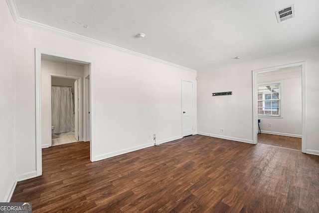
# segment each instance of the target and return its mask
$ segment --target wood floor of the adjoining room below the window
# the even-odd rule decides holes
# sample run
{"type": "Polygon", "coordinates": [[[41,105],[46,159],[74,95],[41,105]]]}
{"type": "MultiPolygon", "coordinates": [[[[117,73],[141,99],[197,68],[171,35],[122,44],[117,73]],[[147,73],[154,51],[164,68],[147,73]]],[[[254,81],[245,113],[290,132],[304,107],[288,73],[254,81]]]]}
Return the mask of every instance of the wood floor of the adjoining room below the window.
{"type": "Polygon", "coordinates": [[[301,151],[301,138],[258,133],[258,143],[301,151]]]}

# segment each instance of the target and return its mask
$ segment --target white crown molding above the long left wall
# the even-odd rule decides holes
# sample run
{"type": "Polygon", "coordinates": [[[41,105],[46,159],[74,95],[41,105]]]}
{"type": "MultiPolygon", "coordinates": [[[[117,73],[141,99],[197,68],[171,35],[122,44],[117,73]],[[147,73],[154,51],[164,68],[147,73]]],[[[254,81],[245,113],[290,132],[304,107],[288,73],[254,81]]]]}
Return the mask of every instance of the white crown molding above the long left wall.
{"type": "Polygon", "coordinates": [[[178,65],[178,64],[175,64],[175,63],[171,63],[171,62],[168,62],[168,61],[165,61],[165,60],[161,60],[159,58],[155,58],[155,57],[152,57],[152,56],[149,56],[149,55],[145,55],[145,54],[142,54],[142,53],[138,53],[138,52],[135,52],[135,51],[132,51],[132,50],[129,50],[129,49],[118,47],[118,46],[115,46],[115,45],[112,45],[112,44],[109,44],[109,43],[106,43],[106,42],[103,42],[103,41],[99,41],[99,40],[96,40],[96,39],[93,39],[93,38],[89,38],[89,37],[86,37],[86,36],[83,36],[83,35],[79,35],[79,34],[76,34],[76,33],[73,33],[73,32],[69,32],[69,31],[66,31],[66,30],[63,30],[63,29],[58,29],[58,28],[55,28],[55,27],[52,27],[52,26],[49,26],[49,25],[45,25],[45,24],[42,24],[42,23],[38,23],[38,22],[35,22],[35,21],[31,21],[31,20],[27,20],[27,19],[21,18],[20,15],[19,15],[18,9],[16,7],[16,4],[15,4],[15,0],[6,0],[6,2],[7,2],[7,5],[9,7],[9,10],[11,12],[11,15],[12,15],[13,20],[14,20],[15,23],[22,24],[22,25],[29,26],[29,27],[33,27],[33,28],[40,29],[40,30],[44,30],[44,31],[47,31],[47,32],[55,33],[55,34],[62,35],[62,36],[65,36],[65,37],[73,38],[73,39],[76,39],[76,40],[79,40],[79,41],[95,44],[95,45],[98,45],[98,46],[116,49],[116,50],[121,51],[121,52],[129,53],[129,54],[136,55],[136,56],[140,56],[140,57],[143,57],[143,58],[146,58],[146,59],[150,59],[150,60],[153,60],[153,61],[157,61],[157,62],[166,64],[166,65],[174,66],[174,67],[177,67],[177,68],[180,68],[180,69],[184,69],[184,70],[187,70],[187,71],[190,71],[190,72],[197,73],[196,70],[190,69],[188,67],[184,67],[184,66],[181,66],[181,65],[178,65]]]}

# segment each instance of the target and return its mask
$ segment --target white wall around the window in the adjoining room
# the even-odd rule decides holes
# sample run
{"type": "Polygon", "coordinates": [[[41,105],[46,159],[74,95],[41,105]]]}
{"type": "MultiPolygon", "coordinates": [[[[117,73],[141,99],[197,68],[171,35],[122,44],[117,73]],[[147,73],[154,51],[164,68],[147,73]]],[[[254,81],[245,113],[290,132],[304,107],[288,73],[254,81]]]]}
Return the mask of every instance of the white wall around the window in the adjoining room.
{"type": "Polygon", "coordinates": [[[258,83],[281,82],[282,116],[262,117],[260,129],[264,133],[302,136],[302,67],[290,67],[272,72],[258,73],[258,83]],[[269,127],[269,123],[272,124],[269,127]]]}

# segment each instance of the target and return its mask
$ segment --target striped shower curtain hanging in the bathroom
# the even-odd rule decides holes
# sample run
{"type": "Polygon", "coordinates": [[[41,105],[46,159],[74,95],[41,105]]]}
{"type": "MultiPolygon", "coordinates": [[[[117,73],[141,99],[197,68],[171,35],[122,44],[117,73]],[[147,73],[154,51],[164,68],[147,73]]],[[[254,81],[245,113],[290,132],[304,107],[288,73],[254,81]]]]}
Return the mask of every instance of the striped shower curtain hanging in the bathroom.
{"type": "Polygon", "coordinates": [[[74,131],[74,103],[70,87],[52,86],[53,134],[74,131]]]}

